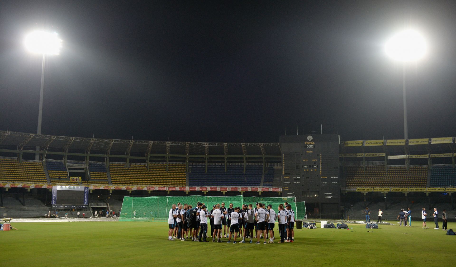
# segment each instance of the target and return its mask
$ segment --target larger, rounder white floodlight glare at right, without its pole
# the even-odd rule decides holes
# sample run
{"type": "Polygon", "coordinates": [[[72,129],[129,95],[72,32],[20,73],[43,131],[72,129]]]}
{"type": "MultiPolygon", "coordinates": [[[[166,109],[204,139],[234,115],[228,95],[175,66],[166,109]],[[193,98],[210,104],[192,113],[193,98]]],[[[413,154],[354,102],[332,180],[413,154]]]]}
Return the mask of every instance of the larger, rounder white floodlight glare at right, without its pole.
{"type": "Polygon", "coordinates": [[[420,60],[426,54],[425,38],[415,30],[398,32],[385,43],[385,52],[394,60],[413,62],[420,60]]]}

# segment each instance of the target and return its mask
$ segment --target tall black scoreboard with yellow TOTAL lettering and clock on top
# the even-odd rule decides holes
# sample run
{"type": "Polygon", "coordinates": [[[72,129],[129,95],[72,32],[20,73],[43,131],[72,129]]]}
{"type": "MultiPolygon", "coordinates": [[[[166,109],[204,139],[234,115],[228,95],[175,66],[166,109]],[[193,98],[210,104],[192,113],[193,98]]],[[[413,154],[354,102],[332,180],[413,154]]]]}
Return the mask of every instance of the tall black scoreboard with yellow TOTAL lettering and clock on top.
{"type": "Polygon", "coordinates": [[[339,136],[280,136],[282,194],[319,203],[338,212],[340,203],[339,136]],[[334,204],[334,205],[329,205],[334,204]]]}

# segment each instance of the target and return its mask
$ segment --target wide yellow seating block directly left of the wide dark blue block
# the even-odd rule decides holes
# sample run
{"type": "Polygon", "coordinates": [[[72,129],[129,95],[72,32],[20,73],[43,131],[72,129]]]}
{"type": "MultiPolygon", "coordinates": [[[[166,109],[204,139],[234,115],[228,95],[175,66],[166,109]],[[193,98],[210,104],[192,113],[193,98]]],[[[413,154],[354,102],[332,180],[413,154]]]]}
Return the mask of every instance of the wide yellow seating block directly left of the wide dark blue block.
{"type": "Polygon", "coordinates": [[[170,164],[166,172],[164,164],[150,164],[147,170],[145,164],[132,163],[130,168],[125,164],[110,163],[109,172],[113,184],[139,185],[171,185],[185,186],[185,165],[170,164]]]}

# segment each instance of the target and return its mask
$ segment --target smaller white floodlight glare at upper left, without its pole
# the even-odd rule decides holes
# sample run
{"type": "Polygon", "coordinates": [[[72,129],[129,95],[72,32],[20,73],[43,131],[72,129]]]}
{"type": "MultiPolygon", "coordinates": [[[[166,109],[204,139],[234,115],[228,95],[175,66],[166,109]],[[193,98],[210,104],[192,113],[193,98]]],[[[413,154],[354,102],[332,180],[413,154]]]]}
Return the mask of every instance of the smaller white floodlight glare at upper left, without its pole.
{"type": "Polygon", "coordinates": [[[62,40],[55,32],[33,31],[26,36],[25,45],[30,52],[58,55],[62,47],[62,40]]]}

